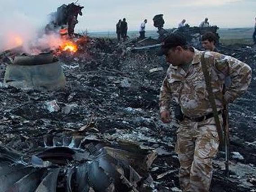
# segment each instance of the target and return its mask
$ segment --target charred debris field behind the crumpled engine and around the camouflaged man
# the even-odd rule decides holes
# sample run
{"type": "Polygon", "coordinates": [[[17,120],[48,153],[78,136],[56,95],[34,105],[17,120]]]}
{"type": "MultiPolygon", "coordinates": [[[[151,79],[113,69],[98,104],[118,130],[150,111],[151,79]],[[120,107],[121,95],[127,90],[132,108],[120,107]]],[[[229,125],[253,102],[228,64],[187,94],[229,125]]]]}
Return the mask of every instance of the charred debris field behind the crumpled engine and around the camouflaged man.
{"type": "MultiPolygon", "coordinates": [[[[157,152],[148,174],[161,192],[179,188],[178,157],[174,153],[177,123],[163,124],[158,98],[167,65],[156,49],[130,51],[137,42],[117,46],[115,40],[91,39],[76,53],[55,51],[66,85],[40,91],[1,83],[12,56],[0,57],[0,143],[32,155],[44,138],[61,135],[100,141],[130,140],[157,152]],[[158,68],[162,67],[162,68],[158,68]],[[157,70],[153,70],[158,68],[157,70]],[[150,71],[151,70],[151,71],[150,71]]],[[[220,45],[220,51],[252,67],[250,88],[230,104],[230,178],[225,178],[225,155],[214,161],[213,192],[256,190],[256,48],[220,45]]],[[[62,162],[63,163],[63,162],[62,162]]],[[[152,189],[153,190],[153,189],[152,189]]]]}

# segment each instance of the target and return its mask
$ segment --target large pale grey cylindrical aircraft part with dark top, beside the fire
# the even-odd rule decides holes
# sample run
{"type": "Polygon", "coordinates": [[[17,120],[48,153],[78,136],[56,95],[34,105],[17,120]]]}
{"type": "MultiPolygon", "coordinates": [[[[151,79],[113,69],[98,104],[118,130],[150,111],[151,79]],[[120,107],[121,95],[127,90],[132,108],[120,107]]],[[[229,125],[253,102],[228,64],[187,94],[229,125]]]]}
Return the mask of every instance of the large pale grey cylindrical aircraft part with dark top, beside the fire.
{"type": "Polygon", "coordinates": [[[24,89],[53,90],[65,86],[65,76],[52,53],[18,56],[7,65],[4,83],[24,89]]]}

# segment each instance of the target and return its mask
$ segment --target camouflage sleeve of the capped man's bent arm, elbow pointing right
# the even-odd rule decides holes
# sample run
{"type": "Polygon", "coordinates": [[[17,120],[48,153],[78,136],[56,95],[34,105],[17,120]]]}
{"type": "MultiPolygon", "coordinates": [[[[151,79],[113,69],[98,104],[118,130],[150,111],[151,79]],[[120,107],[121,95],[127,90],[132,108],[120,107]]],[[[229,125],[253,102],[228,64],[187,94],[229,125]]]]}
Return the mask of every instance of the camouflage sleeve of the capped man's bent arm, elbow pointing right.
{"type": "Polygon", "coordinates": [[[230,88],[224,94],[225,103],[233,102],[248,89],[252,69],[246,63],[222,54],[218,54],[215,60],[216,68],[231,79],[230,88]]]}

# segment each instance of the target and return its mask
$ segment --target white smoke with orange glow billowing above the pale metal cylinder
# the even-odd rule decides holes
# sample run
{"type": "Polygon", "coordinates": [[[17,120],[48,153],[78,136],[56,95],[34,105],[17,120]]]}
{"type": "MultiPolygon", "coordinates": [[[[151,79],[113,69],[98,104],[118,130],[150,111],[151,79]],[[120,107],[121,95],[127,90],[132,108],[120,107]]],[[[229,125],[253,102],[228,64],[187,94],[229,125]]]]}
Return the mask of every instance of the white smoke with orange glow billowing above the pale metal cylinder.
{"type": "Polygon", "coordinates": [[[29,18],[23,13],[14,12],[0,20],[0,52],[22,46],[27,54],[38,54],[40,50],[58,48],[61,39],[58,34],[45,35],[45,26],[52,20],[52,14],[45,18],[29,18]]]}

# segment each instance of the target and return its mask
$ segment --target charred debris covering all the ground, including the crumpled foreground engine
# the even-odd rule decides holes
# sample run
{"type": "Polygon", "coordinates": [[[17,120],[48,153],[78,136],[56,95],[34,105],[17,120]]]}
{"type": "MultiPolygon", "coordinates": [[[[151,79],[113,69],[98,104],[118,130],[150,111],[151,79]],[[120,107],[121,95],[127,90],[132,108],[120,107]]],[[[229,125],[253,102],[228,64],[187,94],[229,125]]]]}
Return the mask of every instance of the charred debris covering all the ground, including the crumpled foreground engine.
{"type": "MultiPolygon", "coordinates": [[[[76,53],[55,51],[66,85],[51,91],[4,84],[13,55],[1,55],[0,169],[7,168],[0,173],[0,183],[5,183],[4,190],[12,184],[26,188],[36,176],[40,179],[29,186],[34,190],[179,191],[174,152],[178,125],[165,125],[158,115],[159,90],[168,66],[156,56],[156,49],[131,51],[142,44],[129,40],[117,45],[115,40],[86,37],[76,53]],[[104,190],[94,183],[97,179],[104,181],[104,190]]],[[[224,176],[225,155],[219,152],[212,191],[253,192],[256,49],[220,45],[220,51],[248,63],[253,80],[248,92],[230,105],[230,178],[224,176]]]]}

